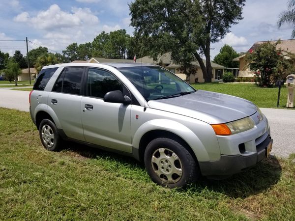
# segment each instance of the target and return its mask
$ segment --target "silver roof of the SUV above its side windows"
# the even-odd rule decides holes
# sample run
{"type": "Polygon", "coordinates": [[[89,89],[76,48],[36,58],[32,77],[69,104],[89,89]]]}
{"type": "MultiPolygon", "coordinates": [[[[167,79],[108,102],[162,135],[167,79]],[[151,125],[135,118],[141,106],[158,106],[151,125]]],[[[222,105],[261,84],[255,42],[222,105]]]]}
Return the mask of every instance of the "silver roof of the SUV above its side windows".
{"type": "Polygon", "coordinates": [[[154,64],[148,64],[148,63],[63,63],[63,64],[54,64],[54,65],[48,65],[44,66],[42,69],[46,68],[55,68],[55,67],[77,67],[77,66],[84,66],[84,67],[99,67],[100,65],[108,65],[114,68],[122,68],[122,67],[142,67],[142,66],[157,66],[154,64]]]}

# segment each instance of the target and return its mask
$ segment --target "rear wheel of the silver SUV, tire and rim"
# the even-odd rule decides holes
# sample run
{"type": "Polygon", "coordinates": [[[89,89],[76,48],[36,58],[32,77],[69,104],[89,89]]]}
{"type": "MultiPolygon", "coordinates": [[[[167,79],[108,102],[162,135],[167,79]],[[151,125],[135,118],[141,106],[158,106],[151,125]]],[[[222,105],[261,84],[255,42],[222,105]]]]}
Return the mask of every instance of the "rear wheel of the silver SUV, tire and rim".
{"type": "Polygon", "coordinates": [[[45,149],[58,151],[62,146],[62,138],[59,136],[58,129],[54,122],[43,119],[39,125],[39,136],[45,149]],[[47,132],[47,134],[46,134],[47,132]]]}

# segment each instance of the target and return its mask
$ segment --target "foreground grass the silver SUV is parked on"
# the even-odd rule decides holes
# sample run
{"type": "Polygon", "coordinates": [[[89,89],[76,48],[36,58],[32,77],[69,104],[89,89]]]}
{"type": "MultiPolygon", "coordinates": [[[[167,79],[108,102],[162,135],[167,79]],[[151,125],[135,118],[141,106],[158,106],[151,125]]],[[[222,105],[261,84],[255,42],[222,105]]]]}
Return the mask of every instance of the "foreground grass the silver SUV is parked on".
{"type": "Polygon", "coordinates": [[[0,220],[295,220],[294,159],[170,190],[128,157],[47,151],[28,112],[0,108],[0,220]]]}

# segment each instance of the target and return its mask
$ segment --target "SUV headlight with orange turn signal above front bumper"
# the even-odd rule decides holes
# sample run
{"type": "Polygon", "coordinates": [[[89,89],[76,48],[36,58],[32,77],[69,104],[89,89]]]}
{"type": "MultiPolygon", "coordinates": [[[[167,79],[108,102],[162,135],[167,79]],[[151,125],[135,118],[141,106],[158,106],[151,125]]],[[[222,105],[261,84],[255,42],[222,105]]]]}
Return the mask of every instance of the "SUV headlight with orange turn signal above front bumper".
{"type": "Polygon", "coordinates": [[[250,117],[232,121],[226,124],[211,124],[216,135],[227,136],[252,129],[255,124],[250,117]]]}

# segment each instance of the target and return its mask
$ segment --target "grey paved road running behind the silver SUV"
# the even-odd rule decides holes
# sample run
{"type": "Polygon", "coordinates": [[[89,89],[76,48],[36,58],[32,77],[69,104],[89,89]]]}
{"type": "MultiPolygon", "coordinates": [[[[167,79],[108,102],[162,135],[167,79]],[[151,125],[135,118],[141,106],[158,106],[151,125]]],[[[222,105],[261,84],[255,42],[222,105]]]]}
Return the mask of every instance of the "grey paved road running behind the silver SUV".
{"type": "MultiPolygon", "coordinates": [[[[0,107],[29,111],[29,91],[0,89],[0,107]]],[[[272,154],[288,157],[295,153],[295,110],[261,108],[273,138],[272,154]]]]}

